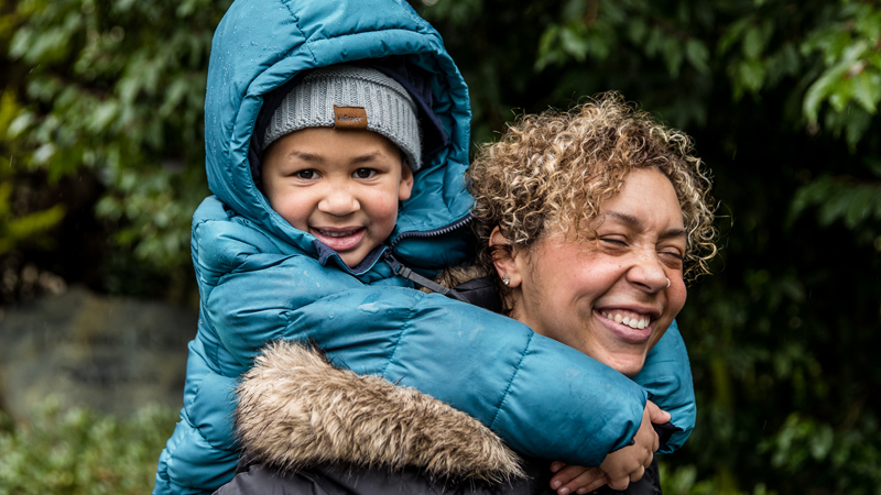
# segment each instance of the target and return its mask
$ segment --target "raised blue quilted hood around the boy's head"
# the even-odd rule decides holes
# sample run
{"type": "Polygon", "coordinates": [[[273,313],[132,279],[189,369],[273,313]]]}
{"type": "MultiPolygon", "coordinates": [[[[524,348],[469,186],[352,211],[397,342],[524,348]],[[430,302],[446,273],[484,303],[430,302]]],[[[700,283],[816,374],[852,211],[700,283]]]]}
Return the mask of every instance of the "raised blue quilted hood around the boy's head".
{"type": "Polygon", "coordinates": [[[417,173],[391,242],[402,261],[443,263],[436,258],[444,250],[424,252],[400,241],[468,215],[471,199],[463,179],[470,139],[468,89],[437,32],[401,0],[237,0],[230,7],[211,45],[205,100],[211,191],[281,242],[319,255],[315,238],[272,210],[252,179],[249,146],[263,97],[304,70],[390,56],[433,78],[433,110],[449,136],[417,173]]]}

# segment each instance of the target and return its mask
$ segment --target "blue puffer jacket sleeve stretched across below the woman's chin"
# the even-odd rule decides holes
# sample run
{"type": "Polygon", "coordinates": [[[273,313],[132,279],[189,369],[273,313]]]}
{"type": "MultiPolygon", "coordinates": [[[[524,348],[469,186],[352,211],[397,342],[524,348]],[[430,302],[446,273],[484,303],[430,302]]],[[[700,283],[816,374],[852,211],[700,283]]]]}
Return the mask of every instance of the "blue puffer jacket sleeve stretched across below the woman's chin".
{"type": "Polygon", "coordinates": [[[250,280],[247,273],[229,277],[208,300],[220,340],[242,369],[265,342],[313,340],[336,364],[447,402],[519,452],[579,465],[599,465],[640,426],[642,387],[515,320],[401,287],[298,304],[297,294],[320,294],[327,280],[292,284],[298,273],[283,266],[250,280]]]}

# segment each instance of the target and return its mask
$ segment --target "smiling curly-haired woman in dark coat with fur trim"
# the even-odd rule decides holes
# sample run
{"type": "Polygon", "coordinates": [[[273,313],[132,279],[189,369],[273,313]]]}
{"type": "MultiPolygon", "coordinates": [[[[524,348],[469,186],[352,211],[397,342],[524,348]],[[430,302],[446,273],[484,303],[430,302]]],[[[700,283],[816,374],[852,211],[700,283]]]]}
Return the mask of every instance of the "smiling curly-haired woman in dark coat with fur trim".
{"type": "MultiPolygon", "coordinates": [[[[485,148],[469,170],[478,268],[502,310],[639,382],[685,302],[685,278],[706,273],[716,252],[709,180],[689,151],[687,136],[613,95],[526,117],[485,148]]],[[[295,344],[270,349],[239,393],[244,462],[224,494],[536,493],[558,482],[553,487],[565,495],[607,481],[627,485],[558,463],[548,481],[546,461],[526,462],[524,479],[478,421],[415,391],[336,370],[295,344]]],[[[629,449],[637,446],[607,462],[629,449]]],[[[643,465],[652,458],[633,457],[643,465]]]]}

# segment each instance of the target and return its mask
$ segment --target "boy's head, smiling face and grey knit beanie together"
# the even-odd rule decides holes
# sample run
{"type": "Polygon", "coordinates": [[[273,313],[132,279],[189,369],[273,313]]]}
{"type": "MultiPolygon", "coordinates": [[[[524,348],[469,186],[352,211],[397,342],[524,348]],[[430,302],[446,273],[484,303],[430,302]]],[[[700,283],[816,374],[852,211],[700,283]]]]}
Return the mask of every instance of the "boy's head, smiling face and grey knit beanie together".
{"type": "Polygon", "coordinates": [[[377,69],[346,65],[316,69],[287,94],[263,146],[272,209],[356,271],[391,235],[422,154],[406,90],[377,69]]]}

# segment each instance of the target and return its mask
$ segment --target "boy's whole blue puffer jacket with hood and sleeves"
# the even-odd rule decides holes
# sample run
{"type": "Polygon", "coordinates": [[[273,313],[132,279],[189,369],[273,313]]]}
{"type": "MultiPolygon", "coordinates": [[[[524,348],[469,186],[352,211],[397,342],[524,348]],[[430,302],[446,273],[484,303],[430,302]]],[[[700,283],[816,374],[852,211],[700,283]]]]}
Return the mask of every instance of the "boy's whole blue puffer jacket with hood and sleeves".
{"type": "Polygon", "coordinates": [[[424,275],[471,256],[461,228],[471,205],[463,180],[468,90],[437,32],[403,0],[237,0],[208,72],[215,196],[193,218],[198,334],[154,493],[211,492],[232,477],[231,389],[276,339],[313,339],[337,364],[445,400],[526,455],[597,465],[631,441],[646,396],[682,430],[668,448],[692,430],[690,372],[675,326],[637,377],[643,388],[514,320],[416,292],[381,257],[352,273],[270,208],[248,162],[262,96],[305,69],[389,55],[434,76],[433,108],[449,142],[416,175],[385,252],[424,275]]]}

